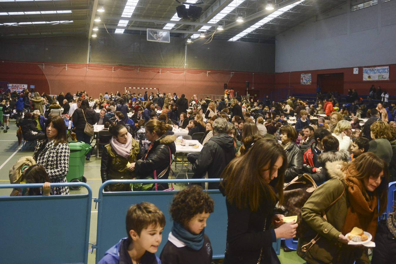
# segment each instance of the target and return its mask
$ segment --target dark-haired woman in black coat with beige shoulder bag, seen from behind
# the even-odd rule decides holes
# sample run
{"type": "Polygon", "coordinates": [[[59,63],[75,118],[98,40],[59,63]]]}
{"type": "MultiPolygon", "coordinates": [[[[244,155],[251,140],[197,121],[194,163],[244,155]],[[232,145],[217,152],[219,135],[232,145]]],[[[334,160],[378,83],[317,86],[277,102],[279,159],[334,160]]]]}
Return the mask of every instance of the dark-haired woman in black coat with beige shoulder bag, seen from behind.
{"type": "MultiPolygon", "coordinates": [[[[72,115],[73,125],[76,128],[76,137],[78,141],[84,141],[87,144],[91,144],[91,136],[84,133],[85,124],[89,123],[94,125],[99,121],[95,111],[89,108],[89,102],[87,99],[82,100],[80,108],[77,108],[72,115]]],[[[89,151],[85,159],[91,158],[91,152],[89,151]]]]}

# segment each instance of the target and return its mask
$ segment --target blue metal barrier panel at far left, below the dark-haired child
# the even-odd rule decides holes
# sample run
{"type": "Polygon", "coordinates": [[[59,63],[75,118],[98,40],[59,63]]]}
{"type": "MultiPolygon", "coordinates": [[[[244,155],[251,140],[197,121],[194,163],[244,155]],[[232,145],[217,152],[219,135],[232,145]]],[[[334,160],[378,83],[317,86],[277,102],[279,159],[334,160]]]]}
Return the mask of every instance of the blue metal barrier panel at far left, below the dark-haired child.
{"type": "MultiPolygon", "coordinates": [[[[1,189],[43,184],[0,184],[1,189]]],[[[88,194],[0,197],[1,263],[88,263],[92,190],[88,194]]],[[[11,193],[11,190],[10,190],[11,193]]]]}

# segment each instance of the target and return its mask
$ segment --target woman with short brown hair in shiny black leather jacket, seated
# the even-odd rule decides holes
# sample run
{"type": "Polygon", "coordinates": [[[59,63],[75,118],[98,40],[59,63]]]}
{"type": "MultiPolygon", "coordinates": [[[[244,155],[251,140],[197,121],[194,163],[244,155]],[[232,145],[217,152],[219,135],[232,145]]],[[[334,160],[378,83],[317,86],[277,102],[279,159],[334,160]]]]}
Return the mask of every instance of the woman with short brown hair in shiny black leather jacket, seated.
{"type": "Polygon", "coordinates": [[[286,151],[288,167],[285,172],[285,183],[293,180],[303,169],[303,152],[295,143],[297,131],[291,125],[280,128],[280,140],[286,151]]]}

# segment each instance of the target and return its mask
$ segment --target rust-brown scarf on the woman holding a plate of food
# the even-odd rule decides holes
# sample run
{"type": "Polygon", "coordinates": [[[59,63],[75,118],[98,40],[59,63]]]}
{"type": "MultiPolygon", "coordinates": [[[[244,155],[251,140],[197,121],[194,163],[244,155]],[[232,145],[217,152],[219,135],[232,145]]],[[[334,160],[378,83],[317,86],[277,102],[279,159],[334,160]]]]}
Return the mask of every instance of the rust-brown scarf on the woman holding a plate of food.
{"type": "Polygon", "coordinates": [[[345,177],[347,197],[350,202],[342,233],[349,233],[355,226],[375,237],[378,224],[377,194],[369,197],[363,194],[364,184],[354,177],[345,177]]]}

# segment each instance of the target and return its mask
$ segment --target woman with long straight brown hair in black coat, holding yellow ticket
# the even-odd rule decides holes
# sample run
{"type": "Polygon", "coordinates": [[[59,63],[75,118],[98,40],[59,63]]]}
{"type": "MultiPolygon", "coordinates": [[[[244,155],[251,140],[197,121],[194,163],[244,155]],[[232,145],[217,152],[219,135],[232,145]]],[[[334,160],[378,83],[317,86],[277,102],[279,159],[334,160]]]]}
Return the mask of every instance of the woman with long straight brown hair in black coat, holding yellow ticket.
{"type": "Polygon", "coordinates": [[[226,196],[228,225],[223,263],[280,263],[272,243],[295,237],[297,228],[293,222],[282,224],[284,216],[274,209],[283,202],[286,167],[282,146],[273,139],[260,139],[224,169],[220,190],[226,196]]]}

